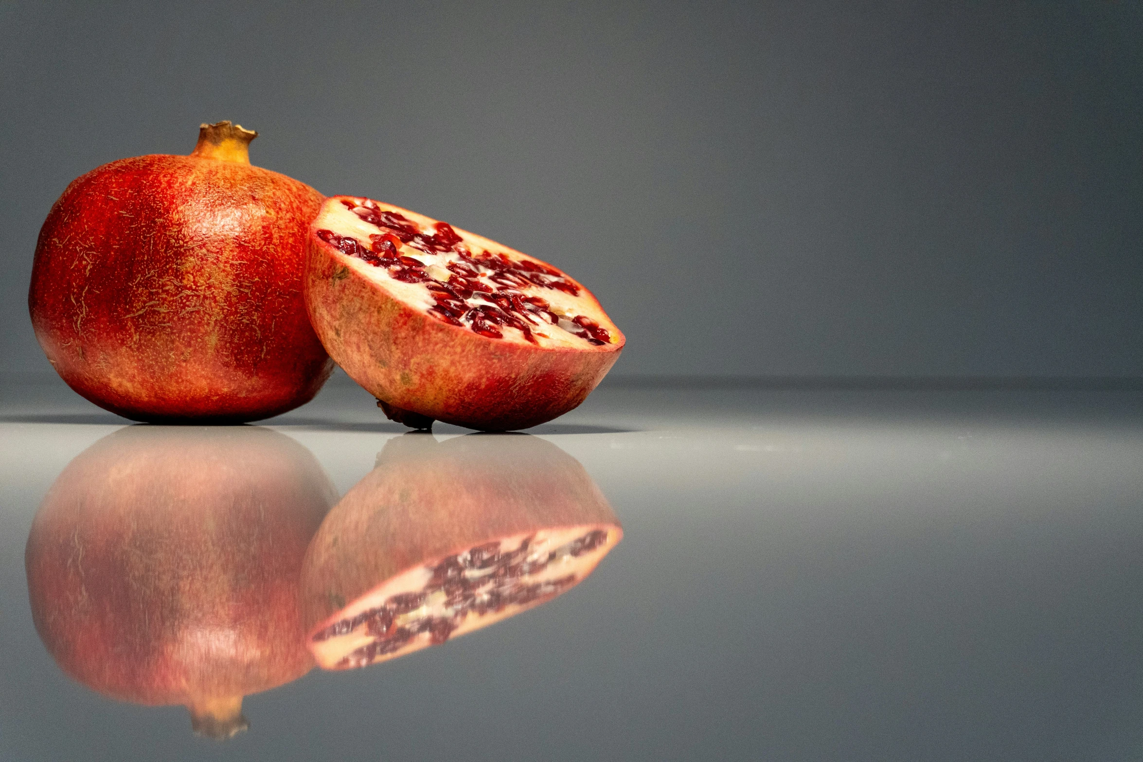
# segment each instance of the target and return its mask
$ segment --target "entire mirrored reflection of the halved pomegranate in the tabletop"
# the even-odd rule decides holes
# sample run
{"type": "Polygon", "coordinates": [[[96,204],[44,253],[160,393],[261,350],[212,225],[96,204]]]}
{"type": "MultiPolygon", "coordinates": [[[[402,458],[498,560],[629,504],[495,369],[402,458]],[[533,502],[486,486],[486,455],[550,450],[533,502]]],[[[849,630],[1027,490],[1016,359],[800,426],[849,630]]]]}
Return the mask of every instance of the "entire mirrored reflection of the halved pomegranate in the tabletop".
{"type": "Polygon", "coordinates": [[[554,444],[406,434],[310,544],[307,644],[320,666],[345,669],[443,643],[570,588],[622,536],[554,444]]]}

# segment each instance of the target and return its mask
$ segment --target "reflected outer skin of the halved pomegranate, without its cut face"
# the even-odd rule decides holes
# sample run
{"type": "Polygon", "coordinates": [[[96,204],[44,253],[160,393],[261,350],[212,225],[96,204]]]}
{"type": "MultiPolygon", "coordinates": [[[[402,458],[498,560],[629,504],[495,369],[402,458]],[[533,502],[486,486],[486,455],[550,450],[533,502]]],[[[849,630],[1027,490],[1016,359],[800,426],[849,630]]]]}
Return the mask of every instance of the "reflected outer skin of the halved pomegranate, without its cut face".
{"type": "MultiPolygon", "coordinates": [[[[306,643],[354,602],[414,567],[537,530],[593,526],[623,537],[607,498],[578,460],[535,436],[429,433],[389,440],[334,506],[302,563],[306,643]]],[[[509,616],[517,610],[509,611],[509,616]]],[[[495,621],[489,617],[485,624],[495,621]]]]}

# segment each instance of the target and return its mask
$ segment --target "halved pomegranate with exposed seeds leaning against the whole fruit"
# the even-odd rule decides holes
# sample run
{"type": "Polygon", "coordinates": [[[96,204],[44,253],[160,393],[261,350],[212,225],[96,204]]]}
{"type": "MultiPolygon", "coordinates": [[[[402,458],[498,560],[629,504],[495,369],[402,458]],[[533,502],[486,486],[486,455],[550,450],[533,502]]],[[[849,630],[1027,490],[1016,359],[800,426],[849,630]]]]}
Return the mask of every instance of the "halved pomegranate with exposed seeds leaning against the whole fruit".
{"type": "Polygon", "coordinates": [[[357,196],[311,225],[310,320],[329,354],[415,428],[527,428],[583,402],[624,337],[588,289],[526,254],[357,196]]]}

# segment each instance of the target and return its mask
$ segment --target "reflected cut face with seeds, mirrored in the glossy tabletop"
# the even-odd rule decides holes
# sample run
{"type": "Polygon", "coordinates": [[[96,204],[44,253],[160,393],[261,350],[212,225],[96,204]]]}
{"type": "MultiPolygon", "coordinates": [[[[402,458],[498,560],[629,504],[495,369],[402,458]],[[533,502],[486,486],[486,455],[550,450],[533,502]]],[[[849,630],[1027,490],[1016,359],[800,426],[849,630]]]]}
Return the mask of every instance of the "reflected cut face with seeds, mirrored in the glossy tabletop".
{"type": "Polygon", "coordinates": [[[310,637],[327,669],[363,667],[443,643],[572,588],[618,539],[598,524],[514,535],[414,567],[310,637]]]}

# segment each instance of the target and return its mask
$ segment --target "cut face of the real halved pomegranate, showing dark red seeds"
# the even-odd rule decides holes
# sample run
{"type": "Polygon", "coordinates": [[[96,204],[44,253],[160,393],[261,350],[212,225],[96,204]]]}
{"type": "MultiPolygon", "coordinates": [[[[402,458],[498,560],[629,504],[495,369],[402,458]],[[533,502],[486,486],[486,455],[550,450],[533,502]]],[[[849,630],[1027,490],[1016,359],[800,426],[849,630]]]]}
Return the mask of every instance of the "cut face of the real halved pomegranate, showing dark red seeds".
{"type": "Polygon", "coordinates": [[[342,252],[347,266],[442,322],[539,347],[593,348],[616,340],[618,331],[599,304],[558,270],[431,217],[371,199],[336,196],[326,201],[314,228],[342,252]],[[400,240],[410,231],[418,236],[400,240]],[[458,240],[451,246],[439,243],[454,238],[458,240]],[[440,248],[447,250],[435,250],[440,248]],[[417,264],[411,270],[408,259],[387,264],[394,257],[417,264]],[[409,272],[411,278],[423,272],[431,281],[401,280],[410,278],[409,272]],[[513,327],[513,320],[523,324],[513,327]]]}

